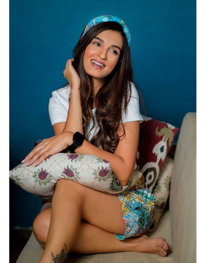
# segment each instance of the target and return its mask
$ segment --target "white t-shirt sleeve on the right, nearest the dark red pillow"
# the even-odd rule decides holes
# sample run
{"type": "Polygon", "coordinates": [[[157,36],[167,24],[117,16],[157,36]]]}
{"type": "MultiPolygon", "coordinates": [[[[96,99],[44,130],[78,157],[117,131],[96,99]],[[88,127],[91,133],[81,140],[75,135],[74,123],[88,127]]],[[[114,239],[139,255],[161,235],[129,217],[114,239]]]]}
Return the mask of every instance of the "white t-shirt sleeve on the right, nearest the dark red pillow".
{"type": "Polygon", "coordinates": [[[139,121],[141,123],[143,118],[139,109],[139,95],[133,82],[131,82],[131,98],[127,106],[127,112],[122,111],[122,122],[139,121]]]}

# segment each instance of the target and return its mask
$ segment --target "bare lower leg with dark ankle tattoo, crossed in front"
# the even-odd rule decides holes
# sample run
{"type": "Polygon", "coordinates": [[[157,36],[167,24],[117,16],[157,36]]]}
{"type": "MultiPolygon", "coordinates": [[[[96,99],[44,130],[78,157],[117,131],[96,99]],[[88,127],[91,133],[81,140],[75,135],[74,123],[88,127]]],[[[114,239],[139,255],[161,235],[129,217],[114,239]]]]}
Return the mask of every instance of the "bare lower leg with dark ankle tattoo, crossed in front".
{"type": "Polygon", "coordinates": [[[65,181],[59,180],[55,188],[47,242],[40,263],[63,262],[79,232],[82,195],[77,187],[68,188],[69,182],[65,181]]]}

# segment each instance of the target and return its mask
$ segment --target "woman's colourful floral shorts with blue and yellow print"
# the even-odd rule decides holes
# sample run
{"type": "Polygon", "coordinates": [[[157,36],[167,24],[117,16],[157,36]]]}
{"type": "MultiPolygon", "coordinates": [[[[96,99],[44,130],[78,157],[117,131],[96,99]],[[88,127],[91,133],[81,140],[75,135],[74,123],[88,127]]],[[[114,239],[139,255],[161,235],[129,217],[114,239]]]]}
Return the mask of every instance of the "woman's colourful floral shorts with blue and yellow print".
{"type": "Polygon", "coordinates": [[[118,234],[115,236],[123,240],[147,232],[153,222],[155,198],[148,190],[144,178],[117,196],[122,205],[121,217],[126,227],[123,236],[118,234]]]}

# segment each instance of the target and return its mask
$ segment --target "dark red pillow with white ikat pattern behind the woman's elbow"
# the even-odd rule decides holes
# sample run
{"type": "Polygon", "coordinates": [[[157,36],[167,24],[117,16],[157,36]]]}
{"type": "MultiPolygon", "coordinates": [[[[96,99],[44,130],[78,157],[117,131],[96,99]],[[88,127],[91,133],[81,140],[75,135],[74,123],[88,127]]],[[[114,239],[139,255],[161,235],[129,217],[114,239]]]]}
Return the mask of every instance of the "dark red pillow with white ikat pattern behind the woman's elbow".
{"type": "Polygon", "coordinates": [[[143,119],[136,163],[152,192],[179,128],[150,117],[143,116],[143,119]]]}

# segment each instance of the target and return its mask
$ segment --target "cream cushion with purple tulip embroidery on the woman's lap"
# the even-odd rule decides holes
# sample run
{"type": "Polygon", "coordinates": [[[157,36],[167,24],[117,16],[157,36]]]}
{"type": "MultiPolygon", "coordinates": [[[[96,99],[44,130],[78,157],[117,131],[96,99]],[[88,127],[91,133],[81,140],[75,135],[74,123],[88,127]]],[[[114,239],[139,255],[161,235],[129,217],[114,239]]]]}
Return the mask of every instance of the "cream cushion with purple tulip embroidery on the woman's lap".
{"type": "Polygon", "coordinates": [[[118,194],[131,188],[141,176],[141,172],[134,170],[127,185],[121,186],[107,160],[89,154],[67,153],[49,156],[38,166],[21,163],[9,171],[12,182],[45,200],[53,198],[56,183],[60,179],[72,180],[101,192],[118,194]]]}

